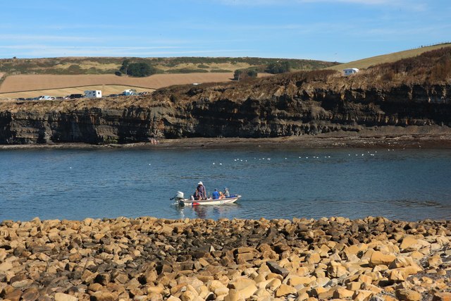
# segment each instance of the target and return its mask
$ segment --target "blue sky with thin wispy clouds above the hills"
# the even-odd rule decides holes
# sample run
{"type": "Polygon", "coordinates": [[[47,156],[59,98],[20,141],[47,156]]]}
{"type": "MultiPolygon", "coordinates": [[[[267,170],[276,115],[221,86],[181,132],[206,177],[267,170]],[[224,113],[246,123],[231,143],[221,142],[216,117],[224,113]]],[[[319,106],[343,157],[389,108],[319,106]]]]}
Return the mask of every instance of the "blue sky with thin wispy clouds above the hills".
{"type": "Polygon", "coordinates": [[[354,61],[451,41],[449,0],[6,0],[0,58],[354,61]]]}

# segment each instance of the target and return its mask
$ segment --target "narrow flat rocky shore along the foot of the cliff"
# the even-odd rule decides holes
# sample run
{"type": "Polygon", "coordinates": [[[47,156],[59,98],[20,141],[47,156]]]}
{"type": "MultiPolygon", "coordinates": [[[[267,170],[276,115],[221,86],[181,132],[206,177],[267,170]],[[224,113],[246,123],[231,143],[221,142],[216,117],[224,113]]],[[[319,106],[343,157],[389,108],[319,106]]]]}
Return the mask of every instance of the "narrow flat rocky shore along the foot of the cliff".
{"type": "Polygon", "coordinates": [[[152,142],[89,145],[87,143],[51,143],[28,145],[0,145],[0,149],[99,149],[99,148],[409,148],[451,149],[451,130],[438,126],[399,128],[387,126],[361,130],[354,135],[345,132],[273,138],[196,137],[159,139],[152,142]]]}

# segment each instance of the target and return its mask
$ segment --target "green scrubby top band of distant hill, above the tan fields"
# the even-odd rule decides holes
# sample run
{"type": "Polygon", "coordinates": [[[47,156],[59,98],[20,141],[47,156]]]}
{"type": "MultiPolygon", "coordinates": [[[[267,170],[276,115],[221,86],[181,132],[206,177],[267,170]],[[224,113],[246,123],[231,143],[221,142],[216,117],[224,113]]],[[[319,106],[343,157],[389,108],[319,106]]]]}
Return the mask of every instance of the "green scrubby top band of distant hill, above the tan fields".
{"type": "Polygon", "coordinates": [[[265,70],[267,66],[280,61],[288,61],[296,70],[316,70],[338,64],[337,62],[304,59],[262,59],[262,58],[117,58],[117,57],[62,57],[48,59],[0,59],[0,73],[93,75],[114,74],[125,59],[133,63],[147,63],[155,73],[230,73],[237,69],[256,68],[265,70]]]}

